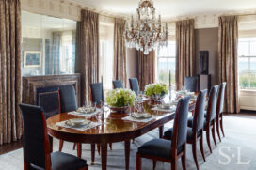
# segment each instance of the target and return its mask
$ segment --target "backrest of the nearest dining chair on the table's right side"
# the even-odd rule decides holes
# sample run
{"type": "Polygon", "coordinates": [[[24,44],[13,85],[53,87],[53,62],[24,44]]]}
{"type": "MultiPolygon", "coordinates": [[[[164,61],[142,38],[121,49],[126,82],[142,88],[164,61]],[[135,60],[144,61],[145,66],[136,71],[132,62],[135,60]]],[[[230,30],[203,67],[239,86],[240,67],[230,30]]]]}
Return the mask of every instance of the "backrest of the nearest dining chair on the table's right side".
{"type": "Polygon", "coordinates": [[[176,114],[173,124],[173,135],[171,147],[173,149],[178,149],[183,147],[186,143],[186,133],[187,133],[187,116],[188,116],[188,104],[190,97],[184,97],[179,100],[176,108],[176,114]]]}

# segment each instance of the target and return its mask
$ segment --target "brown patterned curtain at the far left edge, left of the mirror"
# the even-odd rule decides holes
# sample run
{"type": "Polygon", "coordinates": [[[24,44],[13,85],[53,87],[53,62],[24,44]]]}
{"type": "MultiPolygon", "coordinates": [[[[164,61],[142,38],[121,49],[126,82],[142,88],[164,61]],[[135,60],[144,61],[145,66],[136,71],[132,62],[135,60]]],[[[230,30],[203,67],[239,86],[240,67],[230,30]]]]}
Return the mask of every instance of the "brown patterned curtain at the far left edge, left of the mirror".
{"type": "Polygon", "coordinates": [[[22,136],[21,4],[0,0],[0,144],[22,136]]]}

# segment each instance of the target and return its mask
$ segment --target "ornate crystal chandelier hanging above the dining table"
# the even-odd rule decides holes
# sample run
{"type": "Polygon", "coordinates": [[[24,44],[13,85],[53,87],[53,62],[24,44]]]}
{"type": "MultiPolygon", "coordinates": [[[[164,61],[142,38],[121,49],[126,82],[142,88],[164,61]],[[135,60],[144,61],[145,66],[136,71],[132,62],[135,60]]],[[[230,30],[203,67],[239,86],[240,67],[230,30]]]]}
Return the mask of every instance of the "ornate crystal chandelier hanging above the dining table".
{"type": "Polygon", "coordinates": [[[132,16],[130,29],[126,22],[124,32],[125,45],[128,48],[136,48],[144,54],[152,50],[168,45],[168,23],[161,24],[161,16],[158,21],[155,18],[155,8],[152,0],[140,0],[137,10],[137,19],[132,16]]]}

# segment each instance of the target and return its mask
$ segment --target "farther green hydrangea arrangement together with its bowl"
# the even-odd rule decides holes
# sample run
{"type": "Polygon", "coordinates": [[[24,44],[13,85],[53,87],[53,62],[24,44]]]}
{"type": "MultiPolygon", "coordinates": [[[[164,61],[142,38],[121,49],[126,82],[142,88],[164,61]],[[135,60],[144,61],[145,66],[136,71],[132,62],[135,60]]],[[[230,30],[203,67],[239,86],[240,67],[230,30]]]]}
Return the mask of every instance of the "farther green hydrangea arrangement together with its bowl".
{"type": "Polygon", "coordinates": [[[150,84],[145,86],[145,95],[154,101],[163,100],[168,94],[168,85],[166,84],[150,84]]]}

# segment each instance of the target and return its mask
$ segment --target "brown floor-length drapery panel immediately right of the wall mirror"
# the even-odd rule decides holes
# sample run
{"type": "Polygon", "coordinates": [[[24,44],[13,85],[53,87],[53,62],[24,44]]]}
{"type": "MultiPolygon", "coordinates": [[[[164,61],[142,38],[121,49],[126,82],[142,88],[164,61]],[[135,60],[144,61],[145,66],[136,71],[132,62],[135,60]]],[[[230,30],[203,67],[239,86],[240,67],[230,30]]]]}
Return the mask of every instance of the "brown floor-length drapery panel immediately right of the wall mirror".
{"type": "Polygon", "coordinates": [[[99,15],[81,11],[77,23],[75,71],[81,73],[82,103],[89,100],[89,84],[99,82],[99,15]]]}

